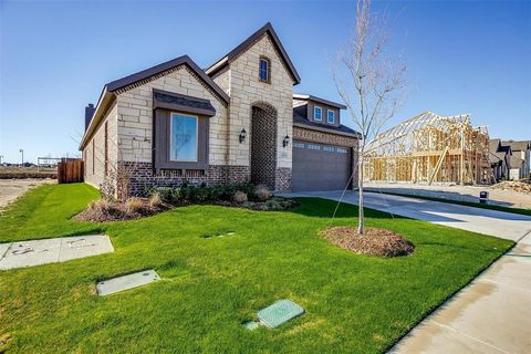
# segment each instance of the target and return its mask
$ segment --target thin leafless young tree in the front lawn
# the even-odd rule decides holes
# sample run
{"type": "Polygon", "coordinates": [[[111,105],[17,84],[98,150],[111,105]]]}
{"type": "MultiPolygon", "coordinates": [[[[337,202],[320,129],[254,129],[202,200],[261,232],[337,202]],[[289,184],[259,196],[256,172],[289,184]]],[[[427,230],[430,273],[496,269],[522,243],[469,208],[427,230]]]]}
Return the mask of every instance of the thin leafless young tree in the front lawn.
{"type": "Polygon", "coordinates": [[[364,232],[363,165],[367,142],[394,116],[406,84],[406,64],[386,51],[386,17],[371,12],[371,0],[358,0],[356,23],[333,66],[337,93],[361,134],[358,145],[358,227],[364,232]]]}

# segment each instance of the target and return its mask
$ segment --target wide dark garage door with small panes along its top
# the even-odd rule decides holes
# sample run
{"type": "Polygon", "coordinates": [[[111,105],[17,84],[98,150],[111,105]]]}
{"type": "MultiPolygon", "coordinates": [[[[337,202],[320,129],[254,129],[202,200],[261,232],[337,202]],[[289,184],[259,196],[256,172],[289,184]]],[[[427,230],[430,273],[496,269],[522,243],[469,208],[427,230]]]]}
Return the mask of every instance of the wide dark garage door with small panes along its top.
{"type": "Polygon", "coordinates": [[[293,190],[340,190],[351,177],[351,148],[293,142],[293,190]]]}

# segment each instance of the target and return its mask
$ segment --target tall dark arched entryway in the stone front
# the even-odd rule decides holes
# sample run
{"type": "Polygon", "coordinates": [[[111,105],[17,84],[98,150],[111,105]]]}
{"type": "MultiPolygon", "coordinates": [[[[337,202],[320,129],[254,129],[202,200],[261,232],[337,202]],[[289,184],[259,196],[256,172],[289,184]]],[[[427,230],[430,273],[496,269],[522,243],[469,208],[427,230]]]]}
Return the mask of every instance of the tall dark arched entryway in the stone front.
{"type": "Polygon", "coordinates": [[[251,181],[275,189],[277,110],[254,103],[251,115],[251,181]]]}

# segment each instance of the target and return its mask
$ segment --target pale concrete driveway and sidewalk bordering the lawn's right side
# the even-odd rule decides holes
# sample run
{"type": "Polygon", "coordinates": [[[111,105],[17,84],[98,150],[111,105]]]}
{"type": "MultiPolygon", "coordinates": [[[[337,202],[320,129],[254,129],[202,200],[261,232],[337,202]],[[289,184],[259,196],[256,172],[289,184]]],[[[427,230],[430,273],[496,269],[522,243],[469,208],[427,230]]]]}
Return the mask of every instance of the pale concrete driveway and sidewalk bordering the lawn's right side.
{"type": "MultiPolygon", "coordinates": [[[[339,200],[341,191],[290,194],[339,200]]],[[[531,217],[365,192],[367,208],[510,239],[517,246],[399,341],[391,353],[529,353],[531,217]]],[[[357,204],[347,191],[344,202],[357,204]]]]}

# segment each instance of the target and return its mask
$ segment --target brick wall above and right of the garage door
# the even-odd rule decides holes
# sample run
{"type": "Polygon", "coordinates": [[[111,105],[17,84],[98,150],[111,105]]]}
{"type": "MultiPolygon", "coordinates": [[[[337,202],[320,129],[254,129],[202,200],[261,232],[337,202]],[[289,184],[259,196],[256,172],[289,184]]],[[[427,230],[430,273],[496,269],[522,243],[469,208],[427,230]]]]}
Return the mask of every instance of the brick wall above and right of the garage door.
{"type": "Polygon", "coordinates": [[[357,188],[357,162],[358,162],[358,138],[344,135],[331,134],[302,127],[293,127],[293,139],[304,142],[315,142],[321,144],[347,146],[352,148],[352,170],[354,177],[352,179],[352,188],[357,188]]]}

